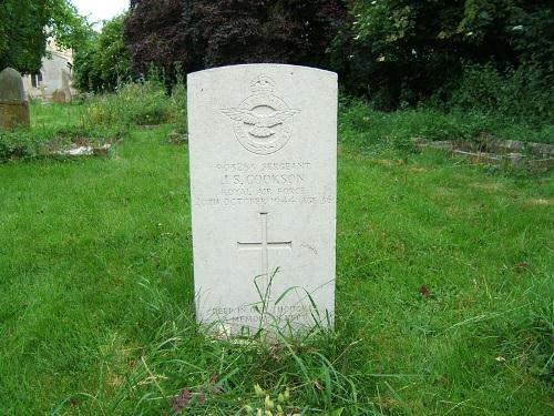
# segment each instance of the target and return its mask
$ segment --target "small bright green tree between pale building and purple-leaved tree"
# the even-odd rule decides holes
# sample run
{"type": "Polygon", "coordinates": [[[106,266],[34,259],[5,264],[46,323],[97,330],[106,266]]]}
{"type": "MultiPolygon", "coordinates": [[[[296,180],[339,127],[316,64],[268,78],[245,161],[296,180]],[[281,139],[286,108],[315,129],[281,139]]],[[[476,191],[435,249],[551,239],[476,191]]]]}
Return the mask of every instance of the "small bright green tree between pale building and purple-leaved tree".
{"type": "Polygon", "coordinates": [[[125,14],[109,20],[75,55],[74,79],[83,91],[112,91],[132,78],[131,55],[123,40],[125,14]]]}

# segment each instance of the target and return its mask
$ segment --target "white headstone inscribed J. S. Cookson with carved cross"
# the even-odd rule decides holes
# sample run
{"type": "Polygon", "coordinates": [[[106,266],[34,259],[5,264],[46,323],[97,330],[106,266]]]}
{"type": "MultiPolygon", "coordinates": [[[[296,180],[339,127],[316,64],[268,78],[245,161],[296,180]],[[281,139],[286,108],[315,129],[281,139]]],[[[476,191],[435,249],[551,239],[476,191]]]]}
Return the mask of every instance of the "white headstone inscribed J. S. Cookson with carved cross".
{"type": "Polygon", "coordinates": [[[187,89],[198,321],[332,325],[337,75],[247,64],[191,73],[187,89]]]}

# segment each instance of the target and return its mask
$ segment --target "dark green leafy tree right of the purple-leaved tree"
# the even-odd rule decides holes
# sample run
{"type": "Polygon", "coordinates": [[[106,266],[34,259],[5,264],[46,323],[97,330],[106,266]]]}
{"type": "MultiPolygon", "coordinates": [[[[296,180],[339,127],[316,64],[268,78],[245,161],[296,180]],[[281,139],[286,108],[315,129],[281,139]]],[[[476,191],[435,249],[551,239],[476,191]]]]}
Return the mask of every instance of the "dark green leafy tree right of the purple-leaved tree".
{"type": "Polygon", "coordinates": [[[335,41],[349,89],[396,109],[455,81],[464,63],[533,62],[552,71],[554,14],[544,0],[352,0],[335,41]]]}

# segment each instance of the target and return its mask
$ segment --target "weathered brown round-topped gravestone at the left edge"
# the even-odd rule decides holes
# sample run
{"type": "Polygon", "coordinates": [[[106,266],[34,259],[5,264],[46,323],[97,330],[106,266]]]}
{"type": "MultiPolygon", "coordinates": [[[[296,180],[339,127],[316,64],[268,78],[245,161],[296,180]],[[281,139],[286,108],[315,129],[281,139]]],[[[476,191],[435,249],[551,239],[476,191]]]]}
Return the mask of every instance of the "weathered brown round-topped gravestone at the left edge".
{"type": "Polygon", "coordinates": [[[7,68],[0,72],[0,128],[29,126],[29,102],[21,74],[7,68]]]}

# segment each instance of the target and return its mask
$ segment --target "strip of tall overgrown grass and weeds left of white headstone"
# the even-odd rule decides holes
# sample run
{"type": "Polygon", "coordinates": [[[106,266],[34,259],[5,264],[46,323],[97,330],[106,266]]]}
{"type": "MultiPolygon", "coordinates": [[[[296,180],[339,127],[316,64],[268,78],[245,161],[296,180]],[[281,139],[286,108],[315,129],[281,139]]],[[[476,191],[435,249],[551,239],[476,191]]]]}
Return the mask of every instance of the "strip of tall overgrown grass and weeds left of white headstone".
{"type": "Polygon", "coordinates": [[[167,95],[162,81],[122,84],[113,94],[75,100],[70,105],[31,105],[31,130],[0,130],[0,163],[10,159],[55,155],[73,144],[106,143],[129,135],[135,125],[170,124],[186,132],[186,92],[183,83],[167,95]]]}

